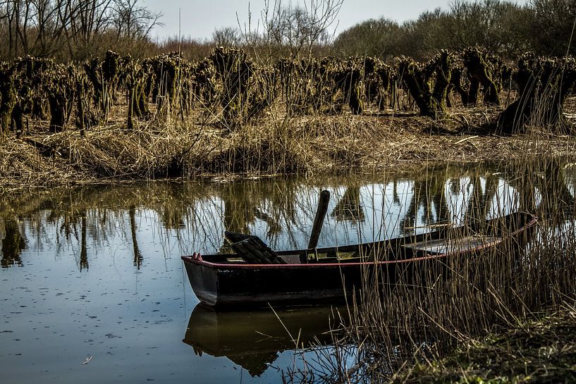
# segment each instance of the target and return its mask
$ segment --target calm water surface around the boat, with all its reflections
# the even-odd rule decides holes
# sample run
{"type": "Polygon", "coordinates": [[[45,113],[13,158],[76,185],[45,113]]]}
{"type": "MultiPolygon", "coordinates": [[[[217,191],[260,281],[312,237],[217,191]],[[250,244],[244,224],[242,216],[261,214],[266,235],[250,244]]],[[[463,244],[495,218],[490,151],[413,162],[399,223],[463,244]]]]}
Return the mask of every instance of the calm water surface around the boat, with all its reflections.
{"type": "MultiPolygon", "coordinates": [[[[534,172],[560,186],[555,198],[573,204],[573,169],[534,172]]],[[[214,312],[197,305],[180,255],[219,252],[224,230],[254,233],[275,249],[305,247],[321,189],[333,198],[319,246],[331,246],[493,217],[547,198],[548,184],[526,191],[523,177],[514,166],[451,166],[0,198],[0,381],[281,383],[305,368],[302,354],[321,369],[317,355],[292,339],[300,335],[299,347],[307,347],[315,335],[330,345],[333,309],[214,312]]],[[[320,349],[326,359],[330,348],[320,349]]],[[[353,354],[343,364],[353,366],[353,354]]]]}

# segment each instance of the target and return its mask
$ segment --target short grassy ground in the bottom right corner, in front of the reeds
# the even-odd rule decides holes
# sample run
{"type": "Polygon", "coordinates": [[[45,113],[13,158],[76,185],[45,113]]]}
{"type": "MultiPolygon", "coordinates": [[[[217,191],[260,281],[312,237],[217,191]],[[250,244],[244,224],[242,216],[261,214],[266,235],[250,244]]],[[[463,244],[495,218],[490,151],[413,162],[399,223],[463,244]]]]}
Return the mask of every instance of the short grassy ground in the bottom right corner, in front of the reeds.
{"type": "Polygon", "coordinates": [[[576,308],[563,306],[447,357],[401,371],[393,383],[576,383],[576,308]]]}

